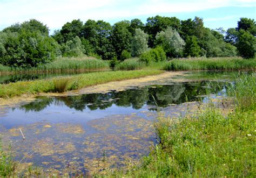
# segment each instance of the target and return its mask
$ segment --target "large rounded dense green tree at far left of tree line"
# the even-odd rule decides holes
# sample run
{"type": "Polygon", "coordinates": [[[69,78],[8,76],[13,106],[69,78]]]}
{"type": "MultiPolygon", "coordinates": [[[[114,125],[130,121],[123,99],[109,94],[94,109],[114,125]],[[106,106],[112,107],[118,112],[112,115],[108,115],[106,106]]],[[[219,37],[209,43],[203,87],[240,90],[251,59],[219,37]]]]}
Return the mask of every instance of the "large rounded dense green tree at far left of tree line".
{"type": "Polygon", "coordinates": [[[36,20],[18,25],[18,30],[0,32],[0,63],[12,67],[35,67],[59,54],[57,42],[48,36],[48,29],[36,20]]]}

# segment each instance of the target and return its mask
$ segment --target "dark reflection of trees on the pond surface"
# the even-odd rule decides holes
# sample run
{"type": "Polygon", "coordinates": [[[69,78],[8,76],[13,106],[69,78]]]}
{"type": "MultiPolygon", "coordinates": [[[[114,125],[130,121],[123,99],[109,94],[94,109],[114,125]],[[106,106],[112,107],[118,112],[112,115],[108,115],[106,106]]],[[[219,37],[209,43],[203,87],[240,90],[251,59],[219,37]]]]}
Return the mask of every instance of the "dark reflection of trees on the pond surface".
{"type": "MultiPolygon", "coordinates": [[[[38,101],[26,104],[20,109],[28,111],[41,111],[48,106],[67,106],[77,111],[105,110],[113,105],[119,107],[131,107],[134,110],[145,105],[166,107],[169,104],[180,104],[190,101],[198,101],[198,96],[216,93],[224,86],[221,82],[178,83],[170,86],[147,86],[125,91],[112,91],[106,94],[86,94],[68,97],[39,97],[38,101]]],[[[149,108],[152,109],[152,108],[149,108]]]]}

